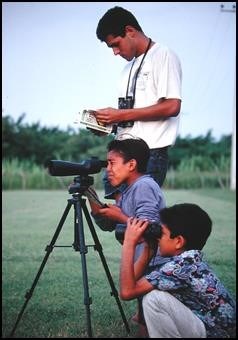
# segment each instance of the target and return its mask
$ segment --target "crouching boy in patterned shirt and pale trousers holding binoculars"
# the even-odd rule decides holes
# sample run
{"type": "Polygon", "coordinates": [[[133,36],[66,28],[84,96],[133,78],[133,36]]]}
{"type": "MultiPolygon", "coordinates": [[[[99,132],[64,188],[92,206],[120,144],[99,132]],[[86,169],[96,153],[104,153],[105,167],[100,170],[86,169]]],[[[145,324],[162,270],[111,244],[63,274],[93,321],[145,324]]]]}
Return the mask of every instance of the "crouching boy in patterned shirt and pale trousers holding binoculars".
{"type": "Polygon", "coordinates": [[[162,233],[155,240],[160,256],[169,257],[164,264],[153,258],[149,244],[134,263],[148,221],[127,221],[121,298],[143,298],[151,338],[235,338],[235,302],[201,252],[211,233],[210,217],[196,204],[182,203],[160,210],[160,219],[162,233]]]}

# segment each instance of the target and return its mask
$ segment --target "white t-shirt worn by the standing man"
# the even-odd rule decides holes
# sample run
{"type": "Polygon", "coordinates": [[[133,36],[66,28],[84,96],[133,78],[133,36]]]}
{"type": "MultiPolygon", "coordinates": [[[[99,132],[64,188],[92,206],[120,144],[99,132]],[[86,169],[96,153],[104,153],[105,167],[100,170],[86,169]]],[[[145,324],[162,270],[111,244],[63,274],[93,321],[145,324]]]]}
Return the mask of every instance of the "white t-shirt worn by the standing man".
{"type": "MultiPolygon", "coordinates": [[[[135,72],[143,55],[136,58],[132,68],[129,92],[132,96],[135,72]]],[[[129,72],[133,60],[122,71],[119,97],[126,97],[129,72]]],[[[148,51],[136,83],[134,108],[154,105],[160,98],[181,99],[182,70],[178,57],[168,47],[158,43],[148,51]]],[[[144,139],[150,149],[161,148],[175,143],[179,127],[179,115],[154,121],[135,121],[133,127],[118,127],[117,137],[130,134],[144,139]]],[[[117,138],[116,137],[116,138],[117,138]]]]}

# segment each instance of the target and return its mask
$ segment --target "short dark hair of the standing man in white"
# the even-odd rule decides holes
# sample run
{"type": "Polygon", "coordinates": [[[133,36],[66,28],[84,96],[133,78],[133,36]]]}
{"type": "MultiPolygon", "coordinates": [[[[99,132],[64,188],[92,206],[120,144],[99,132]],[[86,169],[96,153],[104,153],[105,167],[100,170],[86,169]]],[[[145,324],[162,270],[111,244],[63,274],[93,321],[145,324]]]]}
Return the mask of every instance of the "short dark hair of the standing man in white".
{"type": "Polygon", "coordinates": [[[97,38],[105,41],[109,34],[112,34],[114,37],[124,37],[125,28],[128,25],[142,32],[138,21],[131,12],[119,6],[113,7],[99,20],[96,30],[97,38]]]}

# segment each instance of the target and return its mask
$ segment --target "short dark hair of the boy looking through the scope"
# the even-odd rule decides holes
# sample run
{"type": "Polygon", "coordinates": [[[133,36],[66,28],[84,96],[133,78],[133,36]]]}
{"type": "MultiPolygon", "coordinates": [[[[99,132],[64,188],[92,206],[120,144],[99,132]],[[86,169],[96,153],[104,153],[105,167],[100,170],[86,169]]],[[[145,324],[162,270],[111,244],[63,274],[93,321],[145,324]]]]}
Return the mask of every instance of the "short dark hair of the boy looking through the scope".
{"type": "Polygon", "coordinates": [[[147,163],[150,157],[150,149],[143,139],[115,139],[108,144],[107,149],[108,151],[117,151],[120,153],[125,162],[135,159],[138,172],[146,172],[147,163]]]}

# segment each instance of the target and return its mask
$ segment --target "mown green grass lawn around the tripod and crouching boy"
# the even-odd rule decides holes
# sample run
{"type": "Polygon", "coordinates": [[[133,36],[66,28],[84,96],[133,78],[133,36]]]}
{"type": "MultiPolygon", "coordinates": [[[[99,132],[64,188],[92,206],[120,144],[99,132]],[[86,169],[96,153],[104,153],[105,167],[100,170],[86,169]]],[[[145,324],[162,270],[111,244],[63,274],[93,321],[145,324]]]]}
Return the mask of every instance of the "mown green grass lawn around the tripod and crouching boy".
{"type": "MultiPolygon", "coordinates": [[[[236,295],[235,192],[229,190],[165,190],[167,205],[193,202],[203,207],[213,220],[213,231],[204,248],[206,257],[226,287],[236,295]]],[[[46,254],[59,220],[71,196],[65,191],[4,191],[2,263],[2,337],[8,337],[46,254]]],[[[19,322],[19,338],[85,338],[86,308],[80,252],[72,247],[74,214],[70,210],[56,245],[50,254],[34,293],[19,322]]],[[[118,289],[121,246],[114,233],[95,226],[103,247],[113,284],[118,289]]],[[[136,327],[128,336],[116,299],[92,235],[84,222],[89,295],[93,337],[136,337],[136,327]]],[[[126,318],[136,310],[136,301],[121,301],[126,318]]]]}

